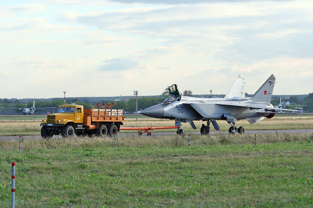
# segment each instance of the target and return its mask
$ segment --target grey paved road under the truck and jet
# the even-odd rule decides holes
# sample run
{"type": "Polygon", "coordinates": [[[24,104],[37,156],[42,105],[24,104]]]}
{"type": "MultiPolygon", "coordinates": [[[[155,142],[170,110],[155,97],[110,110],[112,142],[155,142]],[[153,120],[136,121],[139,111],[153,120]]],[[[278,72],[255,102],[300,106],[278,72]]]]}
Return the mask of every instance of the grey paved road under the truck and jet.
{"type": "MultiPolygon", "coordinates": [[[[152,136],[161,136],[161,135],[176,135],[176,132],[153,132],[150,131],[152,136]]],[[[193,134],[200,134],[200,131],[192,131],[193,134]]],[[[210,131],[210,134],[228,134],[228,131],[210,131]]],[[[313,133],[313,129],[285,129],[285,130],[248,130],[244,132],[245,134],[290,134],[290,133],[313,133]]],[[[132,136],[137,134],[134,133],[118,133],[117,137],[126,137],[132,136]]],[[[188,132],[186,132],[188,134],[188,132]]],[[[142,136],[147,136],[147,134],[143,134],[142,136]]],[[[60,135],[53,136],[53,138],[62,138],[60,135]]],[[[40,135],[35,136],[23,136],[23,139],[33,139],[33,140],[40,140],[42,139],[40,135]]],[[[0,136],[0,140],[19,140],[19,136],[0,136]]]]}

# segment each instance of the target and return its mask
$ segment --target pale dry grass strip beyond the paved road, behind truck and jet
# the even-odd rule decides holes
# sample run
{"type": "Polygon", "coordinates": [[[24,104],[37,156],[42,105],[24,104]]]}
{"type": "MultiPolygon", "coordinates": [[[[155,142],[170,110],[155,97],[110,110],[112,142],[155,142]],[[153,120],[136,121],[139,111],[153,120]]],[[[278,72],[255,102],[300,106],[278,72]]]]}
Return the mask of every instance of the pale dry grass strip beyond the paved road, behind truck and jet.
{"type": "MultiPolygon", "coordinates": [[[[123,127],[148,127],[148,126],[174,126],[175,121],[168,119],[127,119],[123,127]]],[[[220,126],[221,131],[228,131],[230,125],[226,121],[217,121],[220,126]]],[[[182,129],[185,131],[200,131],[201,125],[206,124],[203,121],[194,121],[197,129],[193,130],[189,123],[182,123],[182,129]]],[[[24,121],[0,121],[0,136],[19,136],[19,135],[40,135],[41,126],[39,126],[40,121],[24,120],[24,121]]],[[[275,130],[275,129],[310,129],[313,124],[312,118],[272,118],[264,119],[253,125],[251,125],[247,120],[237,121],[237,126],[244,126],[245,130],[275,130]]],[[[211,131],[215,131],[213,126],[211,126],[211,131]]],[[[160,131],[175,131],[173,129],[161,129],[153,130],[156,132],[160,131]]],[[[121,130],[122,133],[126,132],[136,132],[136,130],[121,130]]]]}

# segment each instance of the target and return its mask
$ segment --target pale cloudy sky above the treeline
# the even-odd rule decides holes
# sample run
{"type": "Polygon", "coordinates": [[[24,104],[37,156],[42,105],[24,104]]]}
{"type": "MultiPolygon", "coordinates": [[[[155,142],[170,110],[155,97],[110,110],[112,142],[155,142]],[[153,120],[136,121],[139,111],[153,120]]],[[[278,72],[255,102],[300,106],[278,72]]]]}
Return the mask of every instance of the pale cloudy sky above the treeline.
{"type": "Polygon", "coordinates": [[[0,98],[313,92],[311,0],[0,0],[0,98]]]}

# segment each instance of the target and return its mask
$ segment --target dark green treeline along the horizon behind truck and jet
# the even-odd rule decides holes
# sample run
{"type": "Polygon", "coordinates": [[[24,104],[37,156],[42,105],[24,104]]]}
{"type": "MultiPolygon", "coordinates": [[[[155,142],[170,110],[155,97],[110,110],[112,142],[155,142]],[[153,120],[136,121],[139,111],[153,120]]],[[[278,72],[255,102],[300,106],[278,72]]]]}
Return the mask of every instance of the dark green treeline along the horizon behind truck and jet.
{"type": "MultiPolygon", "coordinates": [[[[137,98],[137,104],[138,104],[138,111],[140,109],[146,109],[147,107],[156,105],[157,102],[162,102],[164,99],[166,99],[167,95],[165,97],[151,97],[151,96],[143,96],[143,97],[138,97],[137,98]]],[[[35,99],[36,101],[36,99],[35,99]]],[[[296,96],[291,96],[288,99],[281,99],[281,101],[287,102],[289,101],[290,105],[306,105],[303,106],[304,112],[312,112],[313,111],[313,92],[309,93],[308,96],[299,99],[296,96]]],[[[71,103],[76,103],[79,105],[84,106],[84,108],[93,108],[95,104],[99,102],[100,104],[102,103],[112,103],[112,100],[98,100],[93,102],[90,102],[89,100],[85,100],[84,102],[79,101],[79,98],[73,98],[73,99],[67,99],[66,104],[71,104],[71,103]]],[[[115,101],[113,101],[115,102],[115,101]]],[[[136,111],[136,98],[130,98],[128,101],[126,100],[121,100],[121,101],[116,101],[115,106],[113,108],[115,109],[124,109],[125,111],[128,111],[129,113],[133,113],[136,111]]],[[[273,96],[271,103],[274,106],[278,106],[280,104],[280,97],[279,96],[273,96]]],[[[63,99],[57,99],[54,101],[48,101],[48,100],[38,100],[35,103],[35,107],[57,107],[59,105],[64,104],[63,99]]],[[[0,99],[0,107],[6,107],[6,108],[31,108],[33,106],[33,101],[30,101],[28,103],[23,103],[20,102],[19,100],[9,100],[7,98],[5,99],[0,99]]]]}

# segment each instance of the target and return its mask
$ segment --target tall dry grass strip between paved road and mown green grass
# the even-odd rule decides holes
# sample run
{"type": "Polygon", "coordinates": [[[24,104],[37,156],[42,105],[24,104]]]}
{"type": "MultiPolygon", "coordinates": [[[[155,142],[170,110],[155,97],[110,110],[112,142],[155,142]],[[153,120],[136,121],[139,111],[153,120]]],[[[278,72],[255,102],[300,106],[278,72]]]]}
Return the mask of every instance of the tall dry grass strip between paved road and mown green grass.
{"type": "MultiPolygon", "coordinates": [[[[224,145],[245,145],[254,146],[254,135],[240,134],[212,134],[203,136],[200,134],[191,135],[191,146],[224,146],[224,145]]],[[[281,143],[281,142],[312,142],[311,133],[290,133],[290,134],[260,134],[257,136],[257,144],[281,143]]],[[[19,141],[0,140],[0,149],[5,151],[16,150],[19,141]]],[[[112,137],[70,137],[53,139],[27,139],[22,141],[23,150],[31,149],[72,149],[72,148],[114,148],[112,137]]],[[[117,147],[188,147],[188,135],[166,135],[166,136],[139,136],[133,134],[129,137],[118,137],[117,147]]]]}

